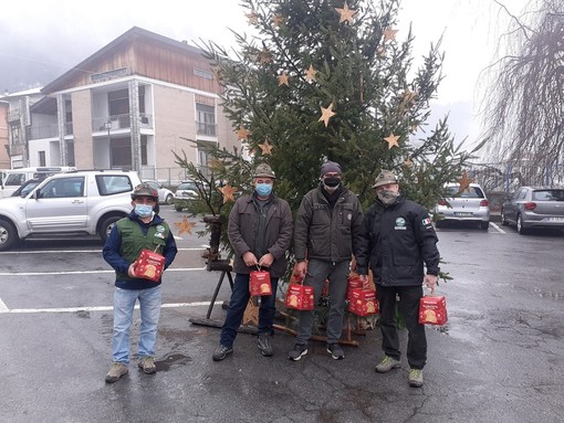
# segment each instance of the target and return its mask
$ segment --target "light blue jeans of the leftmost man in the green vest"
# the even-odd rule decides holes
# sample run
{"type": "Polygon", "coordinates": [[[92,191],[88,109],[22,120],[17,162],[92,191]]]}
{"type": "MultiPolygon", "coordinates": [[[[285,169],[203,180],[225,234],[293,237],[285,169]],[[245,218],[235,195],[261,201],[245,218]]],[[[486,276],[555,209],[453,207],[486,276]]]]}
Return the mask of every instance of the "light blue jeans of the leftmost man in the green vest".
{"type": "Polygon", "coordinates": [[[129,331],[135,302],[139,300],[140,337],[138,357],[155,356],[157,325],[160,317],[163,293],[160,285],[148,289],[123,289],[114,292],[114,361],[129,363],[129,331]]]}

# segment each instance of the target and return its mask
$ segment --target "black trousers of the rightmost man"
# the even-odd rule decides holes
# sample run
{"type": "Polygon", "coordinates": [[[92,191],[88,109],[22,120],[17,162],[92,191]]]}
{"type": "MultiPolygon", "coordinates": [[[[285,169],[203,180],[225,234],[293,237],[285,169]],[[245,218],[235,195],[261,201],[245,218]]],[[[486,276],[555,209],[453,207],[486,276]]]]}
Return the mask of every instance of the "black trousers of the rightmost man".
{"type": "Polygon", "coordinates": [[[419,324],[419,299],[422,297],[421,286],[377,286],[380,306],[382,349],[384,353],[396,360],[400,358],[399,339],[396,327],[396,294],[399,296],[399,313],[406,321],[408,330],[407,361],[411,369],[422,369],[427,361],[427,337],[425,325],[419,324]]]}

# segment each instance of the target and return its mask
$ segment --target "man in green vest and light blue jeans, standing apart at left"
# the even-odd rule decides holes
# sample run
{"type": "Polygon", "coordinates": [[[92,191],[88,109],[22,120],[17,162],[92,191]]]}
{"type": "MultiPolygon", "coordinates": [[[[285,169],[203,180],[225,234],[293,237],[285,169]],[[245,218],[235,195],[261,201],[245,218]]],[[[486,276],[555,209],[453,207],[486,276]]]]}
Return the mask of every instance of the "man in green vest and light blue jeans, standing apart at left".
{"type": "Polygon", "coordinates": [[[106,382],[113,383],[127,373],[129,363],[129,329],[135,303],[140,307],[138,367],[155,373],[154,362],[157,326],[160,316],[161,289],[157,282],[135,274],[135,261],[147,248],[165,256],[165,268],[175,260],[177,247],[168,224],[155,213],[158,192],[148,183],[135,187],[133,212],[116,222],[103,248],[104,260],[115,269],[113,364],[106,382]]]}

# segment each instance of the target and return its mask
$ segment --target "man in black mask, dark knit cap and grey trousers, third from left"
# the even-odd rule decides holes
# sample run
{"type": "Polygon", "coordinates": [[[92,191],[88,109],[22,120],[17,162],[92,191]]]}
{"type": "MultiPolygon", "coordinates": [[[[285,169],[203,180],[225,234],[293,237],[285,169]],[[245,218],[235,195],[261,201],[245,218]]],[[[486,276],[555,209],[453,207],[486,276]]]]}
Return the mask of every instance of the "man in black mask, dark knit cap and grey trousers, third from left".
{"type": "MultiPolygon", "coordinates": [[[[363,221],[361,203],[356,194],[343,187],[342,175],[341,166],[334,161],[322,166],[320,187],[302,199],[294,230],[294,272],[304,276],[305,285],[313,287],[314,304],[320,299],[325,281],[330,281],[327,352],[335,360],[345,358],[338,339],[343,330],[351,258],[361,242],[363,221]]],[[[296,343],[288,355],[291,360],[297,361],[307,353],[313,321],[313,311],[300,311],[296,343]]]]}

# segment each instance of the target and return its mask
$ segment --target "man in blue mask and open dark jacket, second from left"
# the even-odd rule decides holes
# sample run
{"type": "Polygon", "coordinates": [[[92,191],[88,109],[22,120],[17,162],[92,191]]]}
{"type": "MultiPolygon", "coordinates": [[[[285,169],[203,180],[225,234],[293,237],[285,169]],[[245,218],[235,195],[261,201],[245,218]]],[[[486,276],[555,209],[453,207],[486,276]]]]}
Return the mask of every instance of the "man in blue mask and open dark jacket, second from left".
{"type": "Polygon", "coordinates": [[[228,236],[234,250],[233,293],[220,343],[213,361],[223,360],[233,352],[237,329],[241,325],[250,298],[249,278],[253,269],[268,269],[272,295],[261,296],[259,309],[258,347],[263,356],[273,355],[272,335],[276,310],[278,279],[286,272],[286,251],[292,241],[292,212],[285,200],[274,195],[274,172],[268,165],[259,165],[254,172],[254,191],[239,198],[229,214],[228,236]]]}

